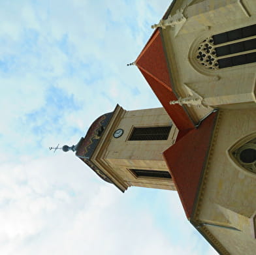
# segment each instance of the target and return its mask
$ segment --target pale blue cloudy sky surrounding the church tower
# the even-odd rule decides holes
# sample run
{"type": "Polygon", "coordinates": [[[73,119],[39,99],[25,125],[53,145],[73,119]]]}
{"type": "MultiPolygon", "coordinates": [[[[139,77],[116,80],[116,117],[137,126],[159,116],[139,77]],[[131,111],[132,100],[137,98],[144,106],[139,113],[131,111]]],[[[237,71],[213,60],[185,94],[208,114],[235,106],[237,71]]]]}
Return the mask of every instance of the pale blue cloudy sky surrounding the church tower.
{"type": "Polygon", "coordinates": [[[71,152],[116,104],[161,107],[135,61],[170,1],[0,1],[0,254],[217,252],[175,191],[124,194],[71,152]]]}

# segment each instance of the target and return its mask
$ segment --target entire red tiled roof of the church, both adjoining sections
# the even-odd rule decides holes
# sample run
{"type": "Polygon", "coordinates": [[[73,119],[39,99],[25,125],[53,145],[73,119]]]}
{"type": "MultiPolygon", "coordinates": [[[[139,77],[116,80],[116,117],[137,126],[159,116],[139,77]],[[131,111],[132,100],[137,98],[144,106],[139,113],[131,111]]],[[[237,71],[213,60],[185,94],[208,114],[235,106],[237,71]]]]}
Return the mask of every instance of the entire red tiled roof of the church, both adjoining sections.
{"type": "Polygon", "coordinates": [[[176,142],[163,153],[163,156],[187,218],[190,218],[197,198],[204,162],[208,156],[217,113],[209,115],[199,128],[195,128],[182,106],[169,104],[171,100],[177,98],[172,90],[172,80],[159,29],[155,29],[136,59],[136,66],[179,130],[176,142]]]}

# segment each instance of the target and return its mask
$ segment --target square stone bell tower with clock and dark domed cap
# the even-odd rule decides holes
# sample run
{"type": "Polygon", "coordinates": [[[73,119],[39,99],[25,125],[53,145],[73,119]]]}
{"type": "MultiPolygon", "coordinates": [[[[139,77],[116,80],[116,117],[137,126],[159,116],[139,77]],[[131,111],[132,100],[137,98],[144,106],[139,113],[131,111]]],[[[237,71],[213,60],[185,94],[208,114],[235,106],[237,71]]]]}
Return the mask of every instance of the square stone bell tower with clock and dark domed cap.
{"type": "Polygon", "coordinates": [[[117,105],[70,150],[122,192],[131,186],[176,190],[162,153],[177,134],[164,108],[126,111],[117,105]]]}

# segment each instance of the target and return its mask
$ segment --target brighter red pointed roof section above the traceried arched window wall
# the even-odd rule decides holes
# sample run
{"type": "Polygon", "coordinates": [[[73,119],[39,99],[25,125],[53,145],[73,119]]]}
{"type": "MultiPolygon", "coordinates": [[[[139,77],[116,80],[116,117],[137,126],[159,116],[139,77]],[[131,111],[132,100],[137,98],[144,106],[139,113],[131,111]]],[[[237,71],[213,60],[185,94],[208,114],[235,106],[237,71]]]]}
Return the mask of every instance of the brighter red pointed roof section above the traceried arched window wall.
{"type": "Polygon", "coordinates": [[[136,66],[152,87],[168,115],[179,130],[195,128],[184,108],[178,104],[170,105],[170,100],[177,100],[172,91],[163,42],[159,29],[156,29],[136,59],[136,66]]]}

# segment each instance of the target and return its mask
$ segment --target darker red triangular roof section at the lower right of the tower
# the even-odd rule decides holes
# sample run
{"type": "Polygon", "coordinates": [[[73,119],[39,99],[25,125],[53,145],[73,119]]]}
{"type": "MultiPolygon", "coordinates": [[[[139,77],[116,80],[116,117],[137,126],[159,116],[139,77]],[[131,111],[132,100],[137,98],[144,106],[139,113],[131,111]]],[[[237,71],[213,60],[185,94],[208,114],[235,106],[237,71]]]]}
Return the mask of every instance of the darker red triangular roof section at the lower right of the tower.
{"type": "Polygon", "coordinates": [[[209,115],[198,129],[184,134],[163,153],[187,218],[193,212],[216,117],[217,113],[209,115]]]}

